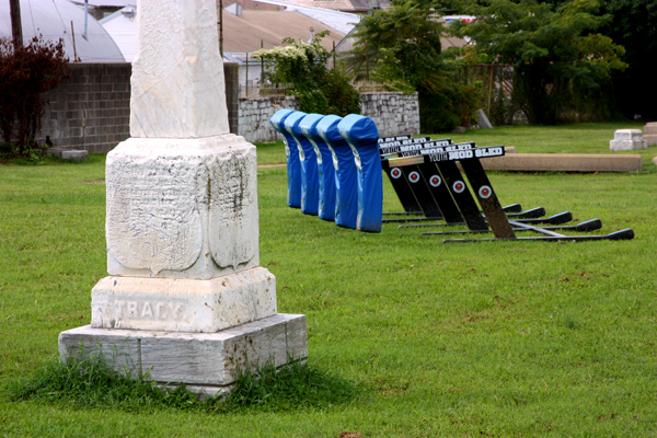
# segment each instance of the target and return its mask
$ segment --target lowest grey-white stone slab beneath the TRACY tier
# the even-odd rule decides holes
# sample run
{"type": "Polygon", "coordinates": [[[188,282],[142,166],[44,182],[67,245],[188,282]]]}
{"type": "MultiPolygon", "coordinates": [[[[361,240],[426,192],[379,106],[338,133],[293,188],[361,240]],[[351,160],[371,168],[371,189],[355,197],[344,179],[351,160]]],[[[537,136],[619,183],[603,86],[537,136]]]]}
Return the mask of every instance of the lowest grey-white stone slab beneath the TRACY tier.
{"type": "MultiPolygon", "coordinates": [[[[185,383],[220,391],[234,382],[237,367],[277,367],[308,357],[306,315],[278,313],[217,333],[181,333],[91,325],[59,334],[61,360],[102,353],[114,369],[149,371],[160,383],[185,383]]],[[[200,388],[200,389],[203,389],[200,388]]],[[[199,389],[199,390],[200,390],[199,389]]]]}

